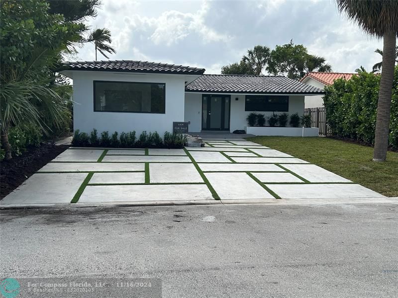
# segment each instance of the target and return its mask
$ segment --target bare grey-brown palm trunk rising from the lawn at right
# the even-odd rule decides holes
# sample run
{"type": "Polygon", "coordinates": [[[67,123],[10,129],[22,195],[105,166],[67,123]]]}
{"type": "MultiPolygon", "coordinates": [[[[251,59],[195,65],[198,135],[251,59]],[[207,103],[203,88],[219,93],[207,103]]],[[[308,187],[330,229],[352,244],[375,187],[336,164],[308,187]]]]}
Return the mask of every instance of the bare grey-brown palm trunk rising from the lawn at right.
{"type": "Polygon", "coordinates": [[[390,109],[393,93],[396,32],[383,36],[383,63],[377,104],[374,161],[385,161],[389,145],[390,109]]]}

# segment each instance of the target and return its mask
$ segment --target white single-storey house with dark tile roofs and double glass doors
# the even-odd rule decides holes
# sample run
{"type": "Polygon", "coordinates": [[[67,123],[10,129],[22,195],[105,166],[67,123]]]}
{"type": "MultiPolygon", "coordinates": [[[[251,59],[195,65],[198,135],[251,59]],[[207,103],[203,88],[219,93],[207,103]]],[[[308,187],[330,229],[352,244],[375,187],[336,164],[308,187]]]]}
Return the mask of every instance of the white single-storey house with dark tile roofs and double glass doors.
{"type": "Polygon", "coordinates": [[[284,76],[203,74],[204,69],[142,61],[66,62],[73,79],[74,128],[90,133],[233,132],[250,112],[304,113],[304,96],[323,91],[284,76]]]}

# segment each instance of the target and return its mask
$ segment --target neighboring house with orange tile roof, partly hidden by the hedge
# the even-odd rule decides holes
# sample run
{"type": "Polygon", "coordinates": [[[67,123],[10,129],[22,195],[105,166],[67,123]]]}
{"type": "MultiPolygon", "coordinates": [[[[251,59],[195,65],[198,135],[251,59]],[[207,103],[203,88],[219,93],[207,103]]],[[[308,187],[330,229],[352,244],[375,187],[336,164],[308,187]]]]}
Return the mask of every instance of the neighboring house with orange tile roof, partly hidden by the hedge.
{"type": "MultiPolygon", "coordinates": [[[[324,89],[325,86],[330,86],[333,84],[335,79],[345,78],[350,79],[354,74],[349,73],[319,73],[319,72],[309,72],[305,74],[300,82],[314,86],[319,89],[324,89]]],[[[317,96],[305,96],[305,108],[317,108],[323,107],[323,95],[317,96]]]]}

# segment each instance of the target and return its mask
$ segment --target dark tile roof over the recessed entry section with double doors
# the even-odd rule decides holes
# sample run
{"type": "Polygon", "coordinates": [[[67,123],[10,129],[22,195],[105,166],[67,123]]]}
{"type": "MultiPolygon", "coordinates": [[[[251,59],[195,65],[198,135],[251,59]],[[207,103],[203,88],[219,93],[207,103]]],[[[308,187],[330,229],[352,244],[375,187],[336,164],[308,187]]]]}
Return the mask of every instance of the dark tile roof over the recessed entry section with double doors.
{"type": "Polygon", "coordinates": [[[323,94],[324,91],[286,76],[203,74],[186,91],[215,93],[323,94]]]}

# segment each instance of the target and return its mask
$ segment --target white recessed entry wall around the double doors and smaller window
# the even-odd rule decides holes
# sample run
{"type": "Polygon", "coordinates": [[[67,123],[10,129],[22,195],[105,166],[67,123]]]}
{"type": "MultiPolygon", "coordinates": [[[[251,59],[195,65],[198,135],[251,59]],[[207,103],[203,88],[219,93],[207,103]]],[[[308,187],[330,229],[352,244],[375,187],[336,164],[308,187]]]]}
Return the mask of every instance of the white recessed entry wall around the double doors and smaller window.
{"type": "MultiPolygon", "coordinates": [[[[214,93],[216,94],[216,93],[214,93]]],[[[245,111],[245,95],[231,94],[231,115],[230,115],[230,132],[234,130],[244,130],[247,126],[246,117],[251,112],[245,111]],[[236,100],[238,98],[238,100],[236,100]]],[[[191,121],[189,126],[190,132],[201,131],[201,113],[202,113],[202,93],[186,93],[185,94],[185,121],[191,121]]],[[[272,115],[272,112],[259,112],[266,117],[272,115]]],[[[304,113],[304,96],[289,96],[289,115],[298,113],[301,116],[304,113]]]]}

